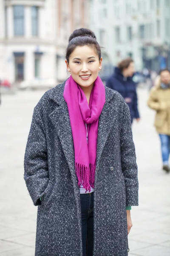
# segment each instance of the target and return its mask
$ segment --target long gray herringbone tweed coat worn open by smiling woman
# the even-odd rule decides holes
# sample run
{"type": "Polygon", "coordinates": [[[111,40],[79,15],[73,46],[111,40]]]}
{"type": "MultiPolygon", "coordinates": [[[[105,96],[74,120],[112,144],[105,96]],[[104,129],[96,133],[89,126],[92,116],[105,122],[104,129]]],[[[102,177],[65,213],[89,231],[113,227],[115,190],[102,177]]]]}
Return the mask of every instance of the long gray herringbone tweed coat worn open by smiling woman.
{"type": "MultiPolygon", "coordinates": [[[[24,178],[38,205],[36,256],[82,256],[80,194],[64,85],[47,91],[35,107],[26,146],[24,178]]],[[[128,106],[116,91],[106,87],[105,93],[97,141],[93,255],[127,256],[126,206],[138,205],[136,155],[128,106]]]]}

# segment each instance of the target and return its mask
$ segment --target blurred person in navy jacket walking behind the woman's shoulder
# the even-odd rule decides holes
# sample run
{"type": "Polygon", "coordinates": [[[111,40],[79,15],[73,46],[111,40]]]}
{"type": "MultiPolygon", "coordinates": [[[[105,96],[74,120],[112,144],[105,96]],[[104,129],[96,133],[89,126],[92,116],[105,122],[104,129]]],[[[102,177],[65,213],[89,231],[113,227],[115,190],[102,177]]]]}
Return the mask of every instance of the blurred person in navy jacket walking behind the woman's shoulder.
{"type": "Polygon", "coordinates": [[[108,79],[106,86],[116,90],[123,96],[130,109],[131,122],[133,122],[133,119],[139,122],[136,84],[132,80],[134,72],[133,59],[125,58],[119,62],[114,74],[108,79]]]}

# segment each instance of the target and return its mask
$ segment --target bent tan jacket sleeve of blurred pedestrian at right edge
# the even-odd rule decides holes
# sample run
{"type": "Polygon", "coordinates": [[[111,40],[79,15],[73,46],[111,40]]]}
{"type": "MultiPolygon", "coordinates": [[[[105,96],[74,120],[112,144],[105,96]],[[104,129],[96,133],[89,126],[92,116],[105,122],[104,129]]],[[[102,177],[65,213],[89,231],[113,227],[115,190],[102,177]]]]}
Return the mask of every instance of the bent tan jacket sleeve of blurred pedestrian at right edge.
{"type": "Polygon", "coordinates": [[[157,98],[157,94],[158,94],[158,92],[157,92],[156,88],[153,88],[150,91],[150,96],[149,96],[149,99],[147,101],[148,107],[150,107],[150,108],[152,108],[156,111],[166,110],[167,109],[166,102],[159,101],[159,99],[157,98]]]}

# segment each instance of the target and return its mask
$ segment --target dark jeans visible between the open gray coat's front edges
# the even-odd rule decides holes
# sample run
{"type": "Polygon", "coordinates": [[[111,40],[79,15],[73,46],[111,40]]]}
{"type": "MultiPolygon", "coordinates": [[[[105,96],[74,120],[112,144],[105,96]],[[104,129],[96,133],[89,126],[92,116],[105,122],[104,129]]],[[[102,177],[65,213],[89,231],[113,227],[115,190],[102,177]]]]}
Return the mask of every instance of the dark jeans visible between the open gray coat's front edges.
{"type": "Polygon", "coordinates": [[[82,255],[93,256],[94,193],[80,194],[82,212],[82,255]]]}

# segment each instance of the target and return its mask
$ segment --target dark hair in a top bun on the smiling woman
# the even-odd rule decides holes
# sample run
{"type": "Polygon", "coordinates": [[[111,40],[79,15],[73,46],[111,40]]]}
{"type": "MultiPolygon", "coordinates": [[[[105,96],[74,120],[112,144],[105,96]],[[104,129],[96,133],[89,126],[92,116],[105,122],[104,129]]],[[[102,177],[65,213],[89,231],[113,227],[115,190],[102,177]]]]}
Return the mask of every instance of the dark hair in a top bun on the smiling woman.
{"type": "Polygon", "coordinates": [[[65,58],[67,62],[69,62],[69,57],[77,46],[85,46],[85,45],[94,47],[96,49],[96,52],[100,60],[102,53],[101,53],[101,47],[99,46],[96,40],[96,35],[90,29],[81,28],[81,29],[74,30],[68,39],[68,47],[66,49],[66,54],[65,54],[65,58]]]}

